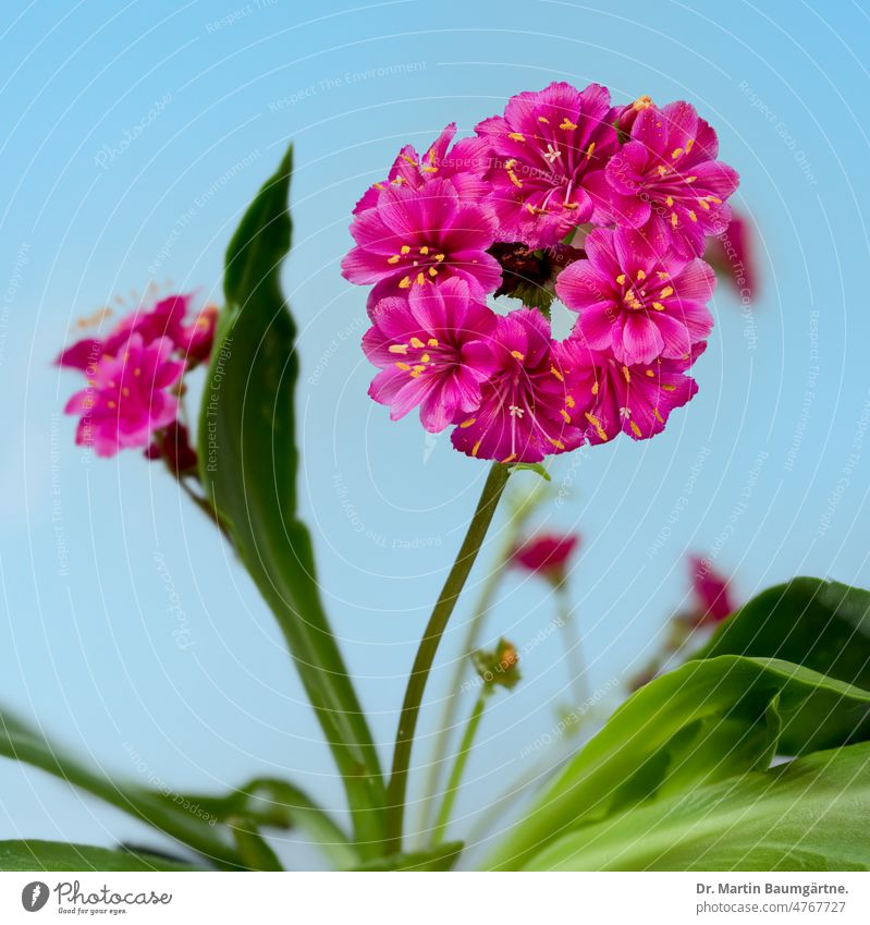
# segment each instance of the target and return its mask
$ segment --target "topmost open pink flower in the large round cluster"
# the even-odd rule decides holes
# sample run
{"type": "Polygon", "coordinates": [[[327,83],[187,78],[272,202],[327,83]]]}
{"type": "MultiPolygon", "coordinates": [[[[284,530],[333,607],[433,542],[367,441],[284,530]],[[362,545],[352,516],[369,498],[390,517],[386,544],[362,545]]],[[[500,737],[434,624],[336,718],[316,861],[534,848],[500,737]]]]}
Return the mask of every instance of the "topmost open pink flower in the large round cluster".
{"type": "Polygon", "coordinates": [[[504,115],[477,126],[492,146],[490,202],[501,240],[557,244],[592,218],[589,185],[618,148],[615,119],[605,87],[553,83],[511,97],[504,115]]]}

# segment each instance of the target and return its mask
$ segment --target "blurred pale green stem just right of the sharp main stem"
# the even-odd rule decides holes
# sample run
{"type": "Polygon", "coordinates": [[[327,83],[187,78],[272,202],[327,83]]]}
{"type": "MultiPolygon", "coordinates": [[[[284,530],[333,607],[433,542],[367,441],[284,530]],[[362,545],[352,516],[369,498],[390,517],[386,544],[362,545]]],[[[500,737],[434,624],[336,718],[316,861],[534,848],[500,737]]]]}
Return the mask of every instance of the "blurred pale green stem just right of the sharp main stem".
{"type": "MultiPolygon", "coordinates": [[[[541,483],[542,484],[542,483],[541,483]]],[[[448,693],[444,698],[444,709],[441,715],[441,720],[438,723],[438,735],[432,745],[432,759],[428,765],[428,774],[426,784],[424,786],[424,805],[420,814],[420,831],[425,832],[431,825],[432,814],[436,804],[436,790],[438,780],[441,777],[442,763],[441,755],[448,751],[448,740],[456,721],[456,714],[459,708],[459,691],[462,689],[463,674],[468,669],[468,656],[477,647],[480,637],[480,630],[483,626],[483,620],[489,613],[490,607],[495,598],[495,592],[504,575],[505,568],[511,558],[511,553],[516,548],[519,539],[519,534],[523,531],[529,515],[537,508],[539,501],[544,495],[542,487],[536,486],[535,490],[526,495],[515,507],[510,521],[505,527],[504,539],[494,558],[495,564],[487,575],[483,585],[480,588],[480,595],[477,599],[477,605],[474,608],[474,616],[468,621],[468,629],[465,633],[462,647],[459,648],[461,656],[456,659],[453,668],[453,674],[450,680],[448,693]]]]}

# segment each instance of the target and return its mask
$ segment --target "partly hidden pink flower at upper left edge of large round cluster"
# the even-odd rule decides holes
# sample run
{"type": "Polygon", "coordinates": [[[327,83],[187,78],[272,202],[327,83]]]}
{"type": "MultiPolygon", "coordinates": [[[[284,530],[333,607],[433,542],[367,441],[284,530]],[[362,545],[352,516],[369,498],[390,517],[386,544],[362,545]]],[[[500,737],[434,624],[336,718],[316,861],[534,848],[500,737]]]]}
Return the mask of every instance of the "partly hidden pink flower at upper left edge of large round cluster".
{"type": "Polygon", "coordinates": [[[451,122],[422,156],[412,145],[405,145],[393,161],[388,179],[366,190],[354,207],[354,215],[375,208],[381,190],[390,183],[420,190],[430,180],[449,179],[461,198],[481,198],[489,188],[482,178],[488,147],[480,138],[463,138],[450,148],[455,134],[456,123],[451,122]]]}

